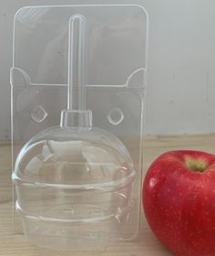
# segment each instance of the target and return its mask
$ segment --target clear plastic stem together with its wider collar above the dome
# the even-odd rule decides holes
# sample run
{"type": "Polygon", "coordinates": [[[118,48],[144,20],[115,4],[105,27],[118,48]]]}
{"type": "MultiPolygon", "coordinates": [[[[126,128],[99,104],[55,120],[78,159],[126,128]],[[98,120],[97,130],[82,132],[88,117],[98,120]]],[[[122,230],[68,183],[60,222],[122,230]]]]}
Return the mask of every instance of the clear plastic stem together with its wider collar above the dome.
{"type": "Polygon", "coordinates": [[[67,110],[61,112],[61,127],[92,127],[92,112],[86,110],[86,24],[82,15],[69,19],[67,110]]]}

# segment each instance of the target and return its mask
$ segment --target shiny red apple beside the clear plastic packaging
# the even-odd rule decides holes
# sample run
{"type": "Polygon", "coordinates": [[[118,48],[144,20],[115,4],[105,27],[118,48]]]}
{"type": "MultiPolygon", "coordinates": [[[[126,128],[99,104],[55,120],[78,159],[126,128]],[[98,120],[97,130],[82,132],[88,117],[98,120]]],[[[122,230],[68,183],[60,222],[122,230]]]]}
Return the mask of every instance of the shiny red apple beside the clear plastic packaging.
{"type": "Polygon", "coordinates": [[[142,196],[148,225],[169,251],[215,256],[215,155],[188,150],[160,155],[148,168],[142,196]],[[204,170],[190,169],[188,159],[194,166],[203,162],[204,170]]]}

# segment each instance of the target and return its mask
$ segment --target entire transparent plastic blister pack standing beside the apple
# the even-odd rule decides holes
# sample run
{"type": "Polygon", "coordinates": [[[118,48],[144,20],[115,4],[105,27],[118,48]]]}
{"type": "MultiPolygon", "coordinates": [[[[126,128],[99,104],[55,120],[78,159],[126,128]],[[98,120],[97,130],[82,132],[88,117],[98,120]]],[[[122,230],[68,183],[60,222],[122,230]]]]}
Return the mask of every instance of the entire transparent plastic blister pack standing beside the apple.
{"type": "Polygon", "coordinates": [[[140,5],[16,13],[15,225],[32,243],[88,250],[137,237],[147,34],[140,5]]]}

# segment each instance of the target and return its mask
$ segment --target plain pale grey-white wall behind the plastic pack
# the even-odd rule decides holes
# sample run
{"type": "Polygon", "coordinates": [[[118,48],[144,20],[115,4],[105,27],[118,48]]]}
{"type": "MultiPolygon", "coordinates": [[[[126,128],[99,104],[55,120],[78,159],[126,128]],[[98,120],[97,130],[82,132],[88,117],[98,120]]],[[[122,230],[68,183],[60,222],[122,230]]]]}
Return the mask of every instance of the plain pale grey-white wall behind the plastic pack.
{"type": "MultiPolygon", "coordinates": [[[[59,2],[70,3],[69,0],[0,3],[0,140],[10,136],[9,69],[15,11],[24,5],[59,2]]],[[[150,16],[145,133],[214,133],[214,0],[142,2],[150,16]]]]}

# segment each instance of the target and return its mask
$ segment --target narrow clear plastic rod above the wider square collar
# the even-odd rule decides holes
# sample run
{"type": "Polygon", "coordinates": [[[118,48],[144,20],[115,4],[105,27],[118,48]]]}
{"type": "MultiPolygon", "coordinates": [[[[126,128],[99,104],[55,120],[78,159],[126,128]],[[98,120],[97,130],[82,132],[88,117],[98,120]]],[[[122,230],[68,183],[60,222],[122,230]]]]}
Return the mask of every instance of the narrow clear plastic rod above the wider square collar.
{"type": "Polygon", "coordinates": [[[68,39],[68,110],[86,109],[86,18],[81,15],[69,19],[68,39]]]}

